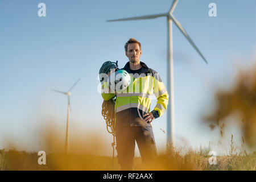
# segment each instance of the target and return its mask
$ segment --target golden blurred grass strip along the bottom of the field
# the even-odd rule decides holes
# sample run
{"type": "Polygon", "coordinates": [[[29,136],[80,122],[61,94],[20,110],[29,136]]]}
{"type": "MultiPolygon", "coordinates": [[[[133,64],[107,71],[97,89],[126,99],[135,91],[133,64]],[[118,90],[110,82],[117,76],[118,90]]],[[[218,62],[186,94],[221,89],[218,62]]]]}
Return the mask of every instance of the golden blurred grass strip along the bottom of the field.
{"type": "MultiPolygon", "coordinates": [[[[92,154],[46,154],[46,165],[38,164],[36,152],[0,150],[0,170],[119,170],[117,158],[92,154]]],[[[141,158],[134,158],[134,170],[255,170],[256,155],[217,156],[210,165],[206,152],[189,150],[186,154],[169,151],[159,154],[151,166],[144,167],[141,158]]]]}

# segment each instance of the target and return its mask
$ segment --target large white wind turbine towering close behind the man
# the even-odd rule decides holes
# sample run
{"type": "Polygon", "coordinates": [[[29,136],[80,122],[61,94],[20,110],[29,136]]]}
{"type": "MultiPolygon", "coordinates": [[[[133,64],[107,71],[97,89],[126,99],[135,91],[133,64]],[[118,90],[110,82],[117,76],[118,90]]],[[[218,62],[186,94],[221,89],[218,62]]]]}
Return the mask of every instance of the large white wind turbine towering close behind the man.
{"type": "Polygon", "coordinates": [[[125,21],[125,20],[141,20],[141,19],[154,19],[161,16],[165,16],[167,18],[167,90],[168,93],[171,93],[171,98],[168,101],[167,107],[167,144],[172,144],[175,146],[174,139],[174,58],[173,58],[173,47],[172,47],[172,22],[179,28],[181,33],[185,36],[189,43],[196,49],[197,53],[203,58],[205,63],[208,64],[207,60],[203,56],[203,54],[196,47],[196,44],[193,43],[192,39],[188,36],[187,32],[181,26],[181,24],[174,18],[172,13],[177,5],[178,0],[174,0],[172,2],[171,9],[168,13],[164,14],[154,14],[154,15],[146,15],[146,16],[136,16],[132,18],[122,18],[122,19],[113,19],[106,20],[106,22],[116,22],[116,21],[125,21]]]}

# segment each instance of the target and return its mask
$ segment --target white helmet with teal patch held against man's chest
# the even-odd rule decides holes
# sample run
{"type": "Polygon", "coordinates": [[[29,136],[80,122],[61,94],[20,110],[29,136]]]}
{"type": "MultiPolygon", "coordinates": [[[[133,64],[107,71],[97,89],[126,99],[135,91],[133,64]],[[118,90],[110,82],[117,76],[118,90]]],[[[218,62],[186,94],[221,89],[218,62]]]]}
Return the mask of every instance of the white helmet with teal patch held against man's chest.
{"type": "Polygon", "coordinates": [[[112,91],[122,91],[125,90],[131,82],[131,77],[128,72],[123,69],[112,73],[108,77],[109,88],[112,91]]]}

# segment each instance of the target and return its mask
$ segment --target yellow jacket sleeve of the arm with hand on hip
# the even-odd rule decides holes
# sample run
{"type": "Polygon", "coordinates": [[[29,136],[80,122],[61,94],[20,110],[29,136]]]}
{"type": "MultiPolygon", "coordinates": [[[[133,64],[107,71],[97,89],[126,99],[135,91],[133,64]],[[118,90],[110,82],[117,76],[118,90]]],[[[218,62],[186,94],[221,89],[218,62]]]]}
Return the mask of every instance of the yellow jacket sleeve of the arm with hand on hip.
{"type": "Polygon", "coordinates": [[[163,113],[167,109],[169,95],[167,93],[166,87],[163,84],[158,73],[154,73],[154,94],[156,99],[158,100],[154,110],[151,113],[154,115],[154,118],[158,118],[163,115],[163,113]]]}

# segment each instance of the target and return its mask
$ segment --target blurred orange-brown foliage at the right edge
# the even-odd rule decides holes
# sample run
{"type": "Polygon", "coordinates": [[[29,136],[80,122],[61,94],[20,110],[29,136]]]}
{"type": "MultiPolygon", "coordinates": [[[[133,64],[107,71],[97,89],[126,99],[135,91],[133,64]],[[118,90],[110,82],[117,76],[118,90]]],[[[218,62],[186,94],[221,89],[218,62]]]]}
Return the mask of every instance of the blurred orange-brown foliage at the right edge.
{"type": "Polygon", "coordinates": [[[212,113],[205,115],[210,128],[218,127],[221,137],[225,123],[232,114],[236,114],[234,123],[240,126],[242,142],[256,149],[256,65],[248,70],[237,72],[236,82],[232,88],[219,88],[215,94],[216,107],[212,113]]]}

